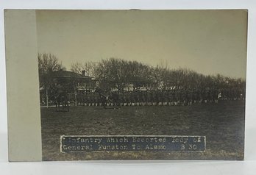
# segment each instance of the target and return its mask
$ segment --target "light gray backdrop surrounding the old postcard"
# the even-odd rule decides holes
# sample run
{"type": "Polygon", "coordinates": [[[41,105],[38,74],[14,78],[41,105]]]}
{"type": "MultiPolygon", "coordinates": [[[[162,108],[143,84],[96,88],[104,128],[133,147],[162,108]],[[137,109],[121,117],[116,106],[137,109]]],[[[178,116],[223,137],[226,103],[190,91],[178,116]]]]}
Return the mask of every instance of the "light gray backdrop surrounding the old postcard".
{"type": "MultiPolygon", "coordinates": [[[[256,1],[75,1],[2,0],[0,3],[0,174],[256,174],[256,1]],[[114,162],[7,162],[7,102],[4,55],[4,8],[8,9],[248,9],[246,87],[246,154],[244,162],[230,161],[114,161],[114,162]]],[[[17,77],[18,78],[18,77],[17,77]]]]}

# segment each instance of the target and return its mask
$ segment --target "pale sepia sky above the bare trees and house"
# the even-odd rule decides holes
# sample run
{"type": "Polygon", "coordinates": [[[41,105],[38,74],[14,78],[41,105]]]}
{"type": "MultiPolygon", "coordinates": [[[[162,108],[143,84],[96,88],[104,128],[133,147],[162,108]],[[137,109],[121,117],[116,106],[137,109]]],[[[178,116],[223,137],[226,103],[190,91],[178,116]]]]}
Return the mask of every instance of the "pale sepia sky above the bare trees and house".
{"type": "Polygon", "coordinates": [[[246,77],[245,10],[36,10],[38,52],[246,77]]]}

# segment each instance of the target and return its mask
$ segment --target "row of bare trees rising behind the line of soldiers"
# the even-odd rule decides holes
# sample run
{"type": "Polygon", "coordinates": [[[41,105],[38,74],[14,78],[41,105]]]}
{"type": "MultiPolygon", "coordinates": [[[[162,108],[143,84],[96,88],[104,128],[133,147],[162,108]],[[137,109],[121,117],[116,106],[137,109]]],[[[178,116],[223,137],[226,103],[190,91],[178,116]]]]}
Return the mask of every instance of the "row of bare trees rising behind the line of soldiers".
{"type": "Polygon", "coordinates": [[[85,62],[71,65],[71,71],[80,74],[82,70],[85,70],[87,76],[95,77],[102,88],[107,86],[118,90],[124,90],[129,85],[133,85],[134,89],[151,86],[158,90],[169,88],[245,90],[246,85],[245,80],[241,78],[235,79],[220,74],[206,76],[187,68],[170,69],[163,64],[153,67],[138,61],[118,58],[101,60],[99,63],[85,62]]]}

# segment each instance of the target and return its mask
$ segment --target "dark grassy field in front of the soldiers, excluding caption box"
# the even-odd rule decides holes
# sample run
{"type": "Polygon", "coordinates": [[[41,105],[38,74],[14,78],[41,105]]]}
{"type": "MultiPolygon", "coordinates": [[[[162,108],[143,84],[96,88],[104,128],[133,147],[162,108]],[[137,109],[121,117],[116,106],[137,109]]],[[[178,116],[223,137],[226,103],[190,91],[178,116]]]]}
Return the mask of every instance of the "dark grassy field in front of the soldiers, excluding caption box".
{"type": "Polygon", "coordinates": [[[242,160],[244,101],[184,107],[41,108],[43,160],[183,159],[242,160]],[[203,153],[60,153],[60,135],[202,135],[203,153]]]}

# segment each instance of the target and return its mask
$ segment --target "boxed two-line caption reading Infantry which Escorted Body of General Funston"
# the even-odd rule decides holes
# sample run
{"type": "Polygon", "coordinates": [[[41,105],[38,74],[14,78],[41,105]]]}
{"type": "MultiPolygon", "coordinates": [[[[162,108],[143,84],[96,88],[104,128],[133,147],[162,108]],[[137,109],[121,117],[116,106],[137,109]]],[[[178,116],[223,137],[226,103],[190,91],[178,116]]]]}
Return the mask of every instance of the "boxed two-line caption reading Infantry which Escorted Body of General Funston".
{"type": "Polygon", "coordinates": [[[205,151],[205,136],[60,136],[60,151],[205,151]]]}

